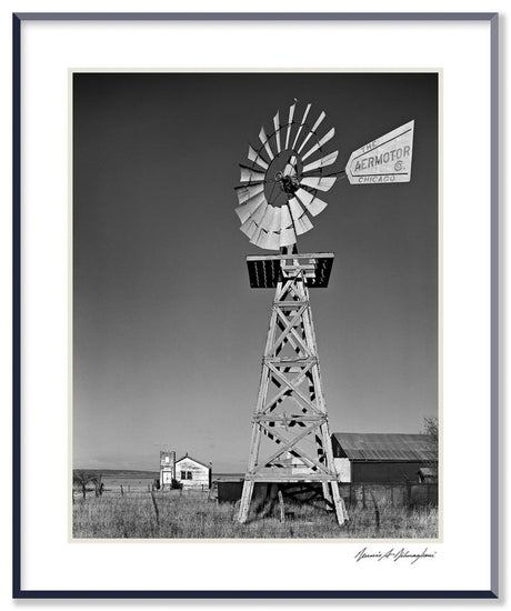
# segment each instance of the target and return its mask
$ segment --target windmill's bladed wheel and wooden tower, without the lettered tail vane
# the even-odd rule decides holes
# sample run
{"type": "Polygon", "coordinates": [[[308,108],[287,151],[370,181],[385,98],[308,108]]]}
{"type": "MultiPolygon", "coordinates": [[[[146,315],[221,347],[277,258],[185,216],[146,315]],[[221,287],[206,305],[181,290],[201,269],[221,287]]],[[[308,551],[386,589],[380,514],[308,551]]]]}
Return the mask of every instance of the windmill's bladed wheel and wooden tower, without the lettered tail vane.
{"type": "Polygon", "coordinates": [[[295,111],[297,100],[283,121],[278,111],[271,128],[261,128],[236,188],[241,231],[251,243],[279,251],[247,258],[251,287],[275,293],[239,521],[248,519],[257,482],[320,482],[343,524],[309,300],[309,289],[328,286],[333,253],[301,254],[297,247],[298,236],[313,227],[310,217],[327,207],[321,198],[341,173],[332,172],[339,151],[328,151],[335,130],[324,128],[324,111],[315,114],[310,103],[299,119],[295,111]]]}

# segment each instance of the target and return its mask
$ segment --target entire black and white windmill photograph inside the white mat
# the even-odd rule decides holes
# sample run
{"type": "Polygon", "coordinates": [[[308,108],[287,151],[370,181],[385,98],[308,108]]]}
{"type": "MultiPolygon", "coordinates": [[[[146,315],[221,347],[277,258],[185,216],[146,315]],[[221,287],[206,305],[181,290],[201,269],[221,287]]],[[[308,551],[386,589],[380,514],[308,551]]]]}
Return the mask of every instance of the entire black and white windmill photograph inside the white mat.
{"type": "Polygon", "coordinates": [[[73,541],[439,540],[441,78],[72,73],[73,541]]]}

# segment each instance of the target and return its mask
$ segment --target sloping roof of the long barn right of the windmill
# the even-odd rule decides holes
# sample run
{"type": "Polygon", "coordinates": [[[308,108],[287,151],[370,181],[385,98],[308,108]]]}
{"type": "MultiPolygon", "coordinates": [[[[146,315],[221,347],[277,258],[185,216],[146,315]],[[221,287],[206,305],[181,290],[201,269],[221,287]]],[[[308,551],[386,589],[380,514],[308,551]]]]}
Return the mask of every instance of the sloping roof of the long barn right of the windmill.
{"type": "Polygon", "coordinates": [[[357,461],[437,461],[431,435],[413,433],[333,433],[341,455],[357,461]]]}

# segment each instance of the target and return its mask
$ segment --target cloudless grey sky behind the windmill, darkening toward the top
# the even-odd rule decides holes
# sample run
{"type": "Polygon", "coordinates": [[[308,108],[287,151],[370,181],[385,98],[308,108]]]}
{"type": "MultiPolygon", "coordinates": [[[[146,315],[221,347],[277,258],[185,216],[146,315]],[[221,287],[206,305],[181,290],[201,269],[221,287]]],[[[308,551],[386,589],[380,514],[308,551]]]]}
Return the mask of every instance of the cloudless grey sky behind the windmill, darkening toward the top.
{"type": "Polygon", "coordinates": [[[325,111],[342,166],[415,121],[411,181],[338,180],[299,238],[335,253],[310,291],[330,429],[438,414],[435,73],[76,73],[76,468],[158,470],[167,448],[246,469],[273,291],[250,289],[246,257],[270,252],[239,231],[233,188],[294,99],[325,111]]]}

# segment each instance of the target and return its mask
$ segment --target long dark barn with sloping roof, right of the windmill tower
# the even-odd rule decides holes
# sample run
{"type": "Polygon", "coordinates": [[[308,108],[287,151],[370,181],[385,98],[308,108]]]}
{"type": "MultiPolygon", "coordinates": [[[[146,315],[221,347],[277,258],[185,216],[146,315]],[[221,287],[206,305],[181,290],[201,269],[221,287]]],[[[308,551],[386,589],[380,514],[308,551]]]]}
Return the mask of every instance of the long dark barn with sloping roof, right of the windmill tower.
{"type": "Polygon", "coordinates": [[[332,450],[341,482],[419,482],[421,470],[438,467],[427,434],[333,433],[332,450]]]}

